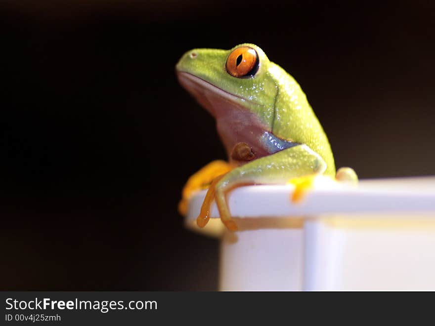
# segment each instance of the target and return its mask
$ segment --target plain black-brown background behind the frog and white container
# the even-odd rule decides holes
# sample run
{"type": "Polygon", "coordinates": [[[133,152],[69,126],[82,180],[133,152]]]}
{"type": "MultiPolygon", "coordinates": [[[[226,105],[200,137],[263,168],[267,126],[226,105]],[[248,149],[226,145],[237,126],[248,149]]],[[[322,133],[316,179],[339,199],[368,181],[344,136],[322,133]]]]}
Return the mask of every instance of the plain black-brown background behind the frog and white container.
{"type": "Polygon", "coordinates": [[[434,172],[432,1],[2,1],[0,289],[213,290],[218,242],[181,188],[225,158],[177,83],[194,47],[260,45],[302,85],[337,166],[434,172]]]}

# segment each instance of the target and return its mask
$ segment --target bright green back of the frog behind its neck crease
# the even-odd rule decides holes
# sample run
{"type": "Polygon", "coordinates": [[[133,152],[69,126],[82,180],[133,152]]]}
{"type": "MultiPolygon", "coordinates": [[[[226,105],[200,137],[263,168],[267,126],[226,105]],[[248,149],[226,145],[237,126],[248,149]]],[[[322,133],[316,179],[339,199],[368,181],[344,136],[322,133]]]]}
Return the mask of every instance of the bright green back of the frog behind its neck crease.
{"type": "Polygon", "coordinates": [[[334,176],[335,163],[331,146],[301,86],[284,69],[272,62],[268,71],[275,76],[278,87],[273,134],[309,146],[327,164],[325,174],[334,176]]]}

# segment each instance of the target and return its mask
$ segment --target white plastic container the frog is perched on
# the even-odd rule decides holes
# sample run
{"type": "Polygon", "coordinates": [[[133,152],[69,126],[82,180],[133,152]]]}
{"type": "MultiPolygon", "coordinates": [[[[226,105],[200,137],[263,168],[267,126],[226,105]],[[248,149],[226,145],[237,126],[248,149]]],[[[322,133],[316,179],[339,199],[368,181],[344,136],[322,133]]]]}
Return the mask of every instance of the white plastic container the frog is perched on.
{"type": "Polygon", "coordinates": [[[221,239],[220,290],[435,290],[435,177],[328,180],[299,204],[292,185],[234,190],[237,232],[216,205],[198,228],[192,197],[186,226],[221,239]]]}

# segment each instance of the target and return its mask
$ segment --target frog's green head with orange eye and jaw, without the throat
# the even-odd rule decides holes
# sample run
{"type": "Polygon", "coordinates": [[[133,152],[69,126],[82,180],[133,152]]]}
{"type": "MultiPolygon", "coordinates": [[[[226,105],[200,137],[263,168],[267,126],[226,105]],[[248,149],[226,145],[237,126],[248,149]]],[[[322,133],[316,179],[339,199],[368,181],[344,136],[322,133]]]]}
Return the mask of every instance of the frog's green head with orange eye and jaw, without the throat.
{"type": "Polygon", "coordinates": [[[231,102],[254,113],[271,128],[276,82],[260,47],[243,43],[230,50],[193,49],[176,65],[180,83],[215,117],[216,102],[231,102]],[[210,103],[213,97],[213,103],[210,103]]]}

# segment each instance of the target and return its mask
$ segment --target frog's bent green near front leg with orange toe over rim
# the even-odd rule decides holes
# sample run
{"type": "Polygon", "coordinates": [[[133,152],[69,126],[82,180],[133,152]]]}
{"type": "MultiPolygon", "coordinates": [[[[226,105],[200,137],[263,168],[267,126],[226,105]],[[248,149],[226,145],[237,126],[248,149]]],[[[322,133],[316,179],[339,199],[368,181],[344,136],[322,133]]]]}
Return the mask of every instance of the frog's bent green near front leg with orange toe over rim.
{"type": "MultiPolygon", "coordinates": [[[[236,223],[226,201],[229,191],[247,184],[285,184],[290,179],[309,174],[320,174],[326,169],[326,163],[306,145],[294,146],[275,154],[262,157],[237,167],[223,175],[210,189],[215,200],[220,219],[231,230],[237,230],[236,223]]],[[[201,215],[198,220],[201,219],[201,215]]]]}

